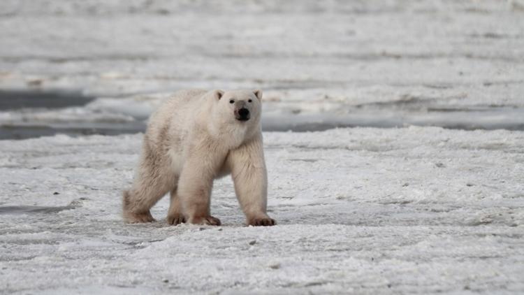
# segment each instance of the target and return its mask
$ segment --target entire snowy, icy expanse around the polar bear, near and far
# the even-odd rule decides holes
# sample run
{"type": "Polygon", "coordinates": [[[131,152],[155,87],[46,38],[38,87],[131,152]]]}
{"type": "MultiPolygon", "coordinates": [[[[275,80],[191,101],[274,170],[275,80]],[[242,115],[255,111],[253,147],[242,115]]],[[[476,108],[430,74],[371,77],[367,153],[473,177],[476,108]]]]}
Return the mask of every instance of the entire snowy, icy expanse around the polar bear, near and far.
{"type": "Polygon", "coordinates": [[[523,57],[522,0],[2,0],[0,138],[77,136],[0,141],[0,294],[523,294],[523,57]],[[358,127],[265,132],[277,226],[123,224],[142,135],[78,134],[193,87],[358,127]]]}

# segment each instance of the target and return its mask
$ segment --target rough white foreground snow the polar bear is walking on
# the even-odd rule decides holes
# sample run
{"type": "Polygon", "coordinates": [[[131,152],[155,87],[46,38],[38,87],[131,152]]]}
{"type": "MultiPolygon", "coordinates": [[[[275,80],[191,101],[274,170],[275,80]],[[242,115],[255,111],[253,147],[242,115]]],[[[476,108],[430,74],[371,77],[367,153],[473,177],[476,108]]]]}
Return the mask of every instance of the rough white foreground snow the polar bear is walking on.
{"type": "Polygon", "coordinates": [[[523,132],[264,135],[279,222],[266,228],[243,226],[228,178],[212,199],[223,226],[168,226],[168,198],[152,211],[158,222],[123,224],[119,191],[131,182],[139,134],[0,141],[0,208],[40,206],[0,214],[0,289],[524,292],[523,132]]]}

